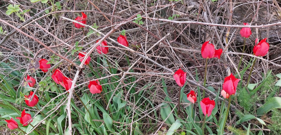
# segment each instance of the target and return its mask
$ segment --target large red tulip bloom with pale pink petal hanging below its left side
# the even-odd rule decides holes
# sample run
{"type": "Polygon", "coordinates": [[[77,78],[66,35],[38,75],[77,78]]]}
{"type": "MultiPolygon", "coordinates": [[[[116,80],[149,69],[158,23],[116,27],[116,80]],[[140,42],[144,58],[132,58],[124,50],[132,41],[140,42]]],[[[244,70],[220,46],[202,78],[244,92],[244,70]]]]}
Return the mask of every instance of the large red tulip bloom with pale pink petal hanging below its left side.
{"type": "Polygon", "coordinates": [[[235,94],[238,82],[240,80],[241,79],[235,78],[235,76],[231,73],[229,76],[225,77],[225,81],[223,82],[223,90],[229,95],[235,94]]]}

